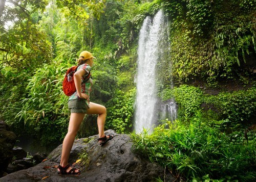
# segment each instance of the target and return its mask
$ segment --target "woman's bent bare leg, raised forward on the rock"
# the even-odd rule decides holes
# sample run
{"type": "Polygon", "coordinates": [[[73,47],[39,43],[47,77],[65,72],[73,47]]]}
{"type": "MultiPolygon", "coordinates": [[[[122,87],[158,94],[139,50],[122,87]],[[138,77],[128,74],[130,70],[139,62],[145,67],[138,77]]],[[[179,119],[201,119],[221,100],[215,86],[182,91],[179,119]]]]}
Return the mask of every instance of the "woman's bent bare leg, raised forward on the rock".
{"type": "Polygon", "coordinates": [[[106,120],[106,108],[97,103],[90,102],[90,109],[87,110],[86,114],[98,114],[97,124],[99,131],[99,138],[105,136],[104,134],[104,125],[106,120]]]}

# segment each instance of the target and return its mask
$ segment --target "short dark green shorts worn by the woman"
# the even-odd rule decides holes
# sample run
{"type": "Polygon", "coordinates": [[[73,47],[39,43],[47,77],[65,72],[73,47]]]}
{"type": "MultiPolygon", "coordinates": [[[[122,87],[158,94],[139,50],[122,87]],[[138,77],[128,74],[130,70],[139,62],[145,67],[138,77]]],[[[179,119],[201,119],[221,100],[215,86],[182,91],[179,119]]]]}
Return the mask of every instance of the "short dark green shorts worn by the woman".
{"type": "Polygon", "coordinates": [[[88,109],[86,99],[80,98],[69,100],[68,106],[71,113],[86,113],[88,109]]]}

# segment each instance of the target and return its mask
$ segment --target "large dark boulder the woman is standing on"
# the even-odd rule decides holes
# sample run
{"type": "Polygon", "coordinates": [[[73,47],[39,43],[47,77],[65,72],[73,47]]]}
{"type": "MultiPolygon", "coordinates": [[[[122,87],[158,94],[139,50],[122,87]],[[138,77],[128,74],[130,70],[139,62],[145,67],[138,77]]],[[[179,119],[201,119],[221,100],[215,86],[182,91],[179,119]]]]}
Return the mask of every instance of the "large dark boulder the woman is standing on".
{"type": "Polygon", "coordinates": [[[61,157],[59,145],[35,167],[20,170],[0,178],[0,181],[174,181],[175,178],[164,168],[133,153],[129,135],[105,132],[115,137],[104,146],[98,144],[98,136],[75,140],[70,154],[70,164],[83,159],[79,164],[81,174],[58,175],[57,165],[61,157]],[[80,155],[80,157],[79,157],[80,155]]]}

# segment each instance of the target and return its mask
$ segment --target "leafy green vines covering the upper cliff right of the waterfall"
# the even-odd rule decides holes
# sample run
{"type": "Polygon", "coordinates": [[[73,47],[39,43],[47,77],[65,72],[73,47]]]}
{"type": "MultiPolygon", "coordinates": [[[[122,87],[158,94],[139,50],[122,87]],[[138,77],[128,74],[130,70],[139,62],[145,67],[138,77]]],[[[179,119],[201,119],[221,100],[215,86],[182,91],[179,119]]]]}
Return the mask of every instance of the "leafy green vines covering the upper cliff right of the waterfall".
{"type": "MultiPolygon", "coordinates": [[[[170,62],[177,83],[233,78],[256,52],[255,1],[154,1],[170,20],[170,62]]],[[[212,83],[211,83],[212,84],[212,83]]]]}

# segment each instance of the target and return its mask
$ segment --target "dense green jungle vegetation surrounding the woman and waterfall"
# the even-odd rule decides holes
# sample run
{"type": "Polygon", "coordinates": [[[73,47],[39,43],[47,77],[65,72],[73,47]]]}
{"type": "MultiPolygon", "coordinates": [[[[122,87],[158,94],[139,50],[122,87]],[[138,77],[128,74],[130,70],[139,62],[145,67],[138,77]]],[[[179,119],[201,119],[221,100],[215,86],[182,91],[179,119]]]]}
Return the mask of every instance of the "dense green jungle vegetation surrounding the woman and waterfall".
{"type": "MultiPolygon", "coordinates": [[[[163,9],[170,52],[159,63],[158,96],[175,98],[178,118],[151,135],[131,133],[135,150],[182,181],[255,180],[255,0],[4,0],[0,6],[0,119],[18,136],[43,145],[63,140],[69,110],[62,80],[82,50],[97,58],[91,100],[108,109],[106,128],[132,132],[139,30],[146,16],[163,9]]],[[[78,137],[97,134],[95,119],[84,119],[78,137]]]]}

